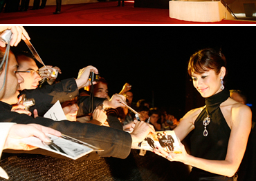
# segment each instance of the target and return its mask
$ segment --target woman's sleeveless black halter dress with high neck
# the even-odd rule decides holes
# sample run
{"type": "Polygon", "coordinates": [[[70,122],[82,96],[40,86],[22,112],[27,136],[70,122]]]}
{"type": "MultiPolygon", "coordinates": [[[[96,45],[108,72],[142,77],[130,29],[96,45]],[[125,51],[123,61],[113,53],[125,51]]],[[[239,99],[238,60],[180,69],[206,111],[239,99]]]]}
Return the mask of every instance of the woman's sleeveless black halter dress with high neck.
{"type": "MultiPolygon", "coordinates": [[[[205,98],[206,107],[194,122],[194,132],[191,136],[191,155],[208,160],[225,160],[230,137],[230,127],[226,123],[219,105],[229,97],[228,90],[205,98]],[[203,120],[209,116],[208,124],[203,120]]],[[[190,180],[234,180],[223,175],[192,168],[190,180]]]]}

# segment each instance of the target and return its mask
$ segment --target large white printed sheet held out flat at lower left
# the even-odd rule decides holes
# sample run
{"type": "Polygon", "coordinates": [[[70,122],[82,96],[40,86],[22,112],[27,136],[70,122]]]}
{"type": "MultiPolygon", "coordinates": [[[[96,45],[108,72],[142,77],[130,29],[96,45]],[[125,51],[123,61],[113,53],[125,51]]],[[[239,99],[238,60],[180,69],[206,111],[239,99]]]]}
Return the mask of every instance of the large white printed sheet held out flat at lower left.
{"type": "Polygon", "coordinates": [[[39,147],[42,149],[46,149],[48,151],[53,151],[62,156],[66,156],[68,158],[72,158],[76,160],[92,151],[103,151],[98,147],[94,147],[93,145],[89,145],[85,142],[72,138],[70,136],[66,136],[62,134],[62,136],[57,137],[51,134],[46,134],[52,142],[43,142],[39,138],[29,137],[21,139],[21,142],[26,143],[27,145],[32,145],[35,147],[39,147]]]}

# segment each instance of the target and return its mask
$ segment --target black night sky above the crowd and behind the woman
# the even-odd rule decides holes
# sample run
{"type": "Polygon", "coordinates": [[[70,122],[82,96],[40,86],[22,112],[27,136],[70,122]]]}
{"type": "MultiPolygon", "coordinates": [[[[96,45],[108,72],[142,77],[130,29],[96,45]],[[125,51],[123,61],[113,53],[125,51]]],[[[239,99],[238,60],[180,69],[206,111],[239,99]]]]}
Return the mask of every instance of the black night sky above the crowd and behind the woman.
{"type": "MultiPolygon", "coordinates": [[[[228,61],[228,89],[241,89],[255,103],[255,27],[235,26],[25,26],[46,65],[60,79],[93,65],[109,83],[109,95],[132,85],[134,102],[185,111],[187,65],[205,47],[220,48],[228,61]]],[[[21,42],[15,50],[28,50],[21,42]]],[[[191,83],[192,85],[192,83],[191,83]]]]}

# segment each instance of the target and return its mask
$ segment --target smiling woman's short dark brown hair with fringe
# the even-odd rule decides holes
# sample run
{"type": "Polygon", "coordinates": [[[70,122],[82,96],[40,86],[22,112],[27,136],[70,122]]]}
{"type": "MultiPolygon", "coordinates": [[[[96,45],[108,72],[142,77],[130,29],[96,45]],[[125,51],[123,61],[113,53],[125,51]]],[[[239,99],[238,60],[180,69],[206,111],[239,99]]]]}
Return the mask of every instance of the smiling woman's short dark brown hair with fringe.
{"type": "Polygon", "coordinates": [[[188,74],[190,76],[192,72],[203,74],[203,72],[209,70],[214,70],[216,74],[219,74],[221,67],[226,67],[225,56],[212,48],[205,48],[190,56],[188,74]]]}

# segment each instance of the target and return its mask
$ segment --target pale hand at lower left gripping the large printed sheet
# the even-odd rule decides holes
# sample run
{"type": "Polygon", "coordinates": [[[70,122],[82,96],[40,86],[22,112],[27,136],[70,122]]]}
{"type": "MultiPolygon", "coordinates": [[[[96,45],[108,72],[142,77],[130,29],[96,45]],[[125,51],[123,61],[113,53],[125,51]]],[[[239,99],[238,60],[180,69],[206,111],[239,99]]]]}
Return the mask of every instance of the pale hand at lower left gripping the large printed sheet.
{"type": "Polygon", "coordinates": [[[30,136],[35,136],[42,140],[43,142],[51,142],[45,134],[53,134],[55,136],[61,136],[60,131],[51,129],[49,127],[44,127],[37,124],[21,125],[15,124],[10,128],[9,134],[6,138],[6,143],[3,149],[23,149],[31,150],[37,147],[26,145],[22,142],[19,142],[21,138],[28,138],[30,136]]]}

